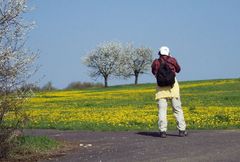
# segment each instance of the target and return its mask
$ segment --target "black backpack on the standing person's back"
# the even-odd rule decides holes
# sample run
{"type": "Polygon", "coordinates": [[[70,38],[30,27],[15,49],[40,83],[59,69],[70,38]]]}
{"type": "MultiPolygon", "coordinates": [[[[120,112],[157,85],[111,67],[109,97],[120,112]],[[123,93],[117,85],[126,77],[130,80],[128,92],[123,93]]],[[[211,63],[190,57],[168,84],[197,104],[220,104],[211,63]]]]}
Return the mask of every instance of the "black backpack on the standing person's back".
{"type": "Polygon", "coordinates": [[[160,67],[157,71],[156,79],[159,87],[171,86],[175,83],[175,73],[170,69],[168,64],[159,59],[160,67]]]}

